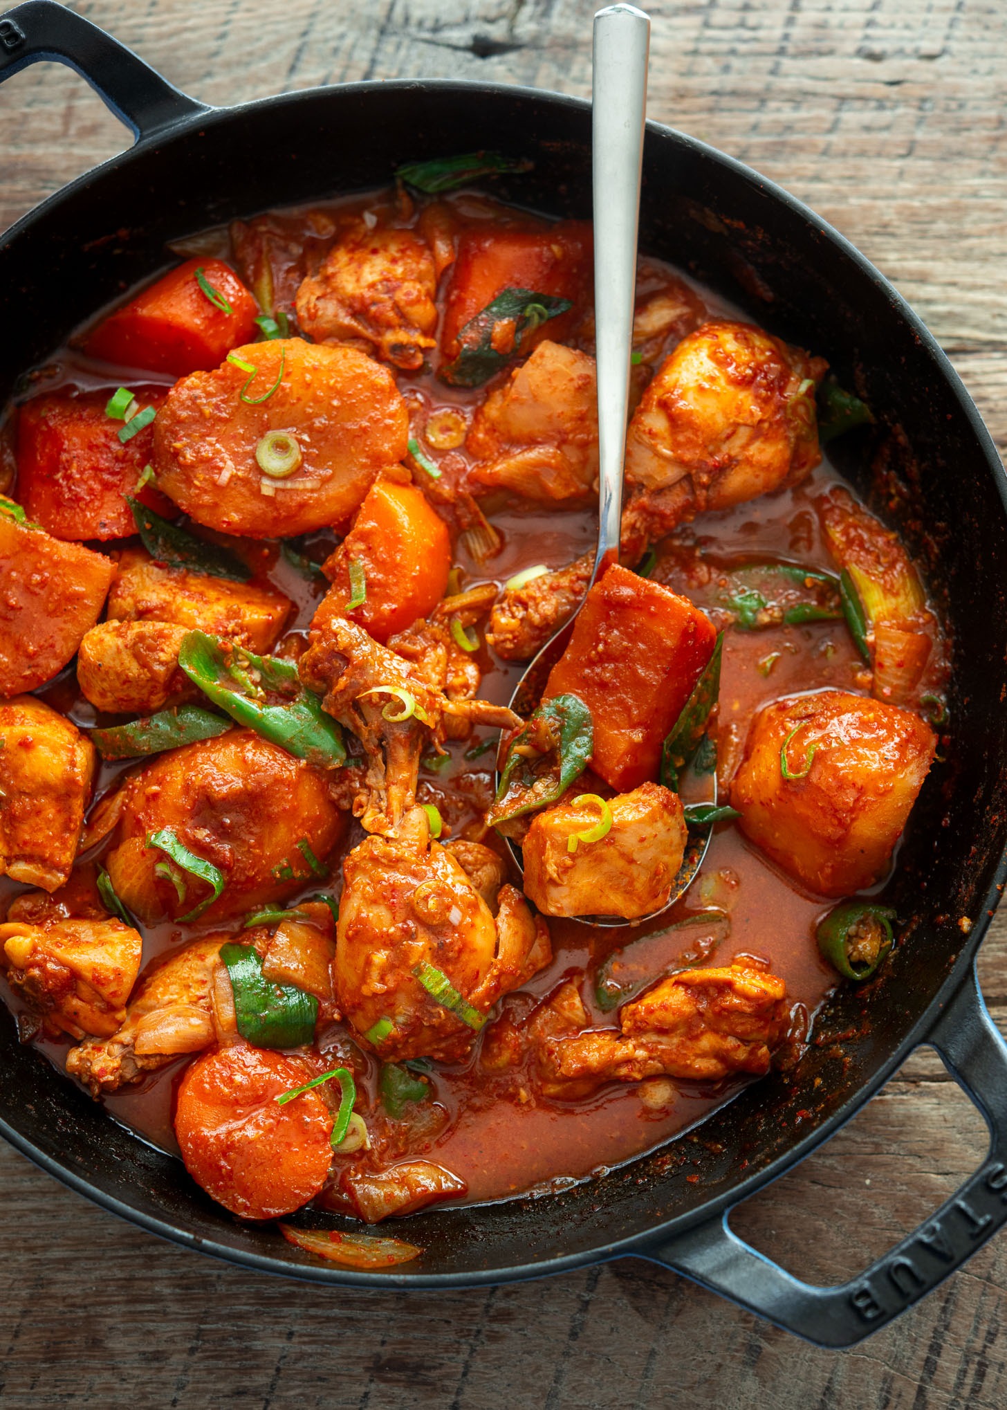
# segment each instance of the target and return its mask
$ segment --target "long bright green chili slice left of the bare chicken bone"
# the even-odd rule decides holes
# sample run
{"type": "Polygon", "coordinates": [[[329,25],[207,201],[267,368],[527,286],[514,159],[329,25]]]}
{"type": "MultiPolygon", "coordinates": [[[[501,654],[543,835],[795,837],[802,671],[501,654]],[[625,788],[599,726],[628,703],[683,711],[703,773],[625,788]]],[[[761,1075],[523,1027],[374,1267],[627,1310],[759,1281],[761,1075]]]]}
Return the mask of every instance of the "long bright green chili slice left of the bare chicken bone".
{"type": "Polygon", "coordinates": [[[254,656],[226,646],[206,632],[188,632],[178,664],[200,691],[238,725],[247,725],[264,739],[279,744],[316,768],[338,768],[346,761],[343,733],[322,708],[322,701],[305,689],[293,661],[276,656],[254,656]],[[258,674],[254,682],[250,671],[258,674]],[[238,687],[243,685],[243,689],[238,687]],[[258,692],[262,698],[252,699],[258,692]],[[269,701],[269,695],[279,697],[269,701]]]}

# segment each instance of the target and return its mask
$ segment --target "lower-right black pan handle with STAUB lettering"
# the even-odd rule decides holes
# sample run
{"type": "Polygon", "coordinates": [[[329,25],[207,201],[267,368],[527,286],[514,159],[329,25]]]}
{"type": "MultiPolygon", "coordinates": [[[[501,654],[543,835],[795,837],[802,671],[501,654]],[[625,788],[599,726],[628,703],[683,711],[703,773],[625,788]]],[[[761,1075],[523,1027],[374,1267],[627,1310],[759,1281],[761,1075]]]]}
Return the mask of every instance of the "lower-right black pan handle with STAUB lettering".
{"type": "Polygon", "coordinates": [[[818,1347],[855,1347],[960,1268],[1007,1222],[1007,1043],[975,970],[928,1035],[990,1128],[980,1169],[925,1224],[838,1287],[800,1282],[742,1242],[721,1218],[640,1256],[664,1263],[818,1347]]]}

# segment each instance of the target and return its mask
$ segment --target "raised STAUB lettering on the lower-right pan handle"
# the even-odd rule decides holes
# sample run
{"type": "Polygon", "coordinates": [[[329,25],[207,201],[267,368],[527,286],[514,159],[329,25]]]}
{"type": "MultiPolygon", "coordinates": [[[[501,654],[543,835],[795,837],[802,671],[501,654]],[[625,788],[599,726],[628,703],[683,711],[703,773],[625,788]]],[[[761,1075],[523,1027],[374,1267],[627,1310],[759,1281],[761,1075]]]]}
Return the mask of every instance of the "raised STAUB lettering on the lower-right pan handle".
{"type": "Polygon", "coordinates": [[[907,1244],[881,1259],[870,1276],[853,1287],[849,1303],[862,1321],[876,1321],[891,1303],[901,1307],[917,1301],[951,1268],[965,1261],[972,1242],[983,1238],[994,1222],[993,1214],[973,1207],[976,1201],[989,1200],[987,1191],[999,1194],[1000,1203],[1007,1204],[1007,1166],[1001,1162],[980,1170],[965,1194],[952,1200],[936,1218],[924,1224],[907,1244]]]}

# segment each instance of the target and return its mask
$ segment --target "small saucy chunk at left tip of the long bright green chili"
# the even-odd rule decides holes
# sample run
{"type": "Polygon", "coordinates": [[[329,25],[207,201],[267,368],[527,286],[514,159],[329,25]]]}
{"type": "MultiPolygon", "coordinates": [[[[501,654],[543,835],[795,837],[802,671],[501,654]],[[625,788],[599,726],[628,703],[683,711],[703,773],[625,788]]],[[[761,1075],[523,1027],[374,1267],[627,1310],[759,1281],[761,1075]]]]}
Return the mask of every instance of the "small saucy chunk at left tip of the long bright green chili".
{"type": "Polygon", "coordinates": [[[178,664],[186,627],[169,622],[99,622],[78,651],[78,685],[94,709],[152,715],[199,695],[178,664]]]}

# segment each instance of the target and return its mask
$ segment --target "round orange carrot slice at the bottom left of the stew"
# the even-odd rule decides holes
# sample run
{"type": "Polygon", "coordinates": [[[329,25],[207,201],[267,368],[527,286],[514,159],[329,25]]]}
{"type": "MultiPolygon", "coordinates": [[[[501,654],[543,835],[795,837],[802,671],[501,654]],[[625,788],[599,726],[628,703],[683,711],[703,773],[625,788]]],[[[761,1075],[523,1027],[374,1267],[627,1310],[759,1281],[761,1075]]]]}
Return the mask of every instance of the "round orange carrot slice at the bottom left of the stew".
{"type": "Polygon", "coordinates": [[[197,1059],[182,1079],[175,1135],[185,1167],[231,1214],[291,1214],[324,1184],[329,1107],[315,1090],[276,1101],[312,1076],[296,1058],[236,1043],[197,1059]]]}

